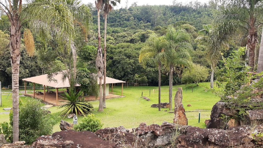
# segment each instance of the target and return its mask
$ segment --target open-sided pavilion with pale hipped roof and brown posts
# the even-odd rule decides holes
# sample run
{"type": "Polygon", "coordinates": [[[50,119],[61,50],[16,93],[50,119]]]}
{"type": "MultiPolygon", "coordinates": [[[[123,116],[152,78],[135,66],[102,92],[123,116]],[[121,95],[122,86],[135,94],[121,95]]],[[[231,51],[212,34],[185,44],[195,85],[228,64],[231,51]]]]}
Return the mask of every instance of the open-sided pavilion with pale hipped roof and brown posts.
{"type": "MultiPolygon", "coordinates": [[[[44,98],[43,101],[45,101],[45,87],[54,87],[56,88],[56,104],[58,105],[58,88],[66,88],[66,87],[70,87],[69,85],[69,80],[68,78],[66,78],[64,81],[62,81],[62,77],[63,77],[63,72],[57,72],[57,75],[53,76],[52,79],[54,81],[49,81],[47,78],[47,74],[45,75],[40,75],[40,76],[35,76],[35,77],[30,77],[30,78],[24,78],[22,79],[24,81],[24,86],[25,86],[25,94],[26,94],[26,81],[28,82],[32,82],[33,83],[33,90],[34,90],[34,94],[33,97],[35,97],[35,83],[37,84],[41,84],[44,87],[44,98]]],[[[122,83],[122,96],[123,96],[123,83],[125,83],[125,81],[121,81],[121,80],[117,80],[114,78],[110,78],[110,77],[106,77],[106,88],[109,89],[109,84],[112,84],[112,92],[113,92],[113,83],[122,83]]],[[[103,80],[102,80],[102,84],[103,84],[103,80]]],[[[98,80],[98,85],[99,85],[99,80],[98,80]]],[[[80,86],[79,84],[77,84],[76,86],[80,86]]],[[[108,94],[109,90],[106,89],[106,94],[108,94]]]]}

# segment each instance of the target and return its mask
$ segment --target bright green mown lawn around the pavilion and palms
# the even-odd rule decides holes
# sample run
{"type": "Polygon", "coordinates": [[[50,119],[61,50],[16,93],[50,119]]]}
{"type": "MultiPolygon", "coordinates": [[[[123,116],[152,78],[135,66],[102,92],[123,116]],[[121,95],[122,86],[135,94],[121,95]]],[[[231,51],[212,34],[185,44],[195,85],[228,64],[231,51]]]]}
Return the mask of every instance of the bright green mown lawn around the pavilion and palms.
{"type": "MultiPolygon", "coordinates": [[[[196,111],[196,112],[186,112],[188,118],[188,125],[205,127],[204,121],[210,119],[211,111],[201,111],[200,123],[198,123],[198,110],[211,110],[213,105],[219,101],[219,97],[212,94],[207,88],[210,86],[209,82],[200,83],[200,86],[195,84],[189,85],[176,85],[173,86],[173,98],[178,87],[183,88],[183,105],[186,111],[196,111]],[[193,92],[192,92],[193,87],[193,92]],[[191,104],[191,107],[187,107],[191,104]]],[[[162,86],[161,88],[169,88],[168,86],[162,86]]],[[[111,89],[111,88],[110,88],[111,89]]],[[[113,88],[116,95],[121,95],[121,86],[115,86],[113,88]]],[[[168,89],[161,90],[161,102],[169,102],[168,89]]],[[[158,108],[150,107],[152,104],[158,103],[158,87],[154,86],[129,86],[123,87],[123,95],[126,97],[115,98],[106,100],[106,107],[103,112],[98,112],[99,101],[90,102],[94,106],[94,111],[92,112],[95,116],[99,117],[103,127],[117,127],[123,125],[126,128],[138,127],[141,122],[146,122],[149,124],[161,124],[163,121],[173,122],[174,114],[168,113],[168,108],[158,108]],[[157,89],[153,93],[153,89],[157,89]],[[141,97],[149,97],[151,101],[146,101],[141,97]],[[151,94],[149,94],[151,92],[151,94]],[[167,110],[167,112],[165,111],[167,110]]],[[[23,101],[26,101],[26,97],[20,97],[23,101]]],[[[11,107],[12,100],[2,96],[3,107],[0,107],[0,112],[3,112],[4,107],[11,107]]],[[[174,107],[174,104],[173,104],[174,107]]],[[[54,112],[59,112],[57,107],[51,107],[49,110],[54,112]]],[[[82,116],[78,116],[78,122],[82,119],[82,116]]],[[[73,119],[64,119],[68,122],[73,122],[73,119]]],[[[0,121],[9,121],[8,115],[0,115],[0,121]]],[[[57,124],[53,131],[60,131],[59,124],[57,124]]]]}

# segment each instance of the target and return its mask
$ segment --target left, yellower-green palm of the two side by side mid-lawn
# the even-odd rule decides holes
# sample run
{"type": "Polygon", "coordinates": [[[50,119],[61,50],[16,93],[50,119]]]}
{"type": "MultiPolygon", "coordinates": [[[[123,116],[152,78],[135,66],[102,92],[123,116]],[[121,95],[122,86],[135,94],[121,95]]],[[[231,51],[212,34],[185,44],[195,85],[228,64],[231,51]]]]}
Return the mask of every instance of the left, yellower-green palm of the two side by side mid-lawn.
{"type": "Polygon", "coordinates": [[[161,61],[164,56],[164,48],[168,45],[165,36],[158,37],[156,34],[152,34],[146,40],[146,46],[141,48],[139,55],[139,62],[142,63],[145,68],[148,58],[154,57],[158,63],[158,72],[159,72],[159,111],[161,111],[161,61]]]}

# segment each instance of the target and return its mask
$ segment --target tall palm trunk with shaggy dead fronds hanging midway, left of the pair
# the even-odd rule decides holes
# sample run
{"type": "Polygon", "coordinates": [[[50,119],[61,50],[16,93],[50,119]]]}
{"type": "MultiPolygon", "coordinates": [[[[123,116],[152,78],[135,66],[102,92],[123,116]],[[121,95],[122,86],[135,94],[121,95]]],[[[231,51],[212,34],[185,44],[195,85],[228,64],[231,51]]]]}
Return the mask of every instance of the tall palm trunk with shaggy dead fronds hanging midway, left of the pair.
{"type": "Polygon", "coordinates": [[[98,50],[97,50],[97,58],[96,58],[96,68],[98,69],[98,77],[99,77],[99,109],[98,111],[103,111],[103,103],[102,103],[102,77],[103,77],[103,57],[102,57],[102,48],[100,45],[100,10],[103,7],[103,0],[95,0],[95,6],[98,11],[98,50]]]}

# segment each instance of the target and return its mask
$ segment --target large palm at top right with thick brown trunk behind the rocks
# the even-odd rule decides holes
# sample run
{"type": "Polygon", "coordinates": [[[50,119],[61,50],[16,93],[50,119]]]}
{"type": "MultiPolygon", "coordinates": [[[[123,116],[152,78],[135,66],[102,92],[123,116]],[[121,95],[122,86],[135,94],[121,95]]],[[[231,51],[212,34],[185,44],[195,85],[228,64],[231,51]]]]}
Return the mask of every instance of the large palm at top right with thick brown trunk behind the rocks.
{"type": "Polygon", "coordinates": [[[222,3],[225,6],[221,7],[219,19],[224,21],[233,20],[247,32],[248,66],[251,67],[250,71],[253,71],[257,32],[262,28],[262,0],[232,0],[223,1],[222,3]]]}

